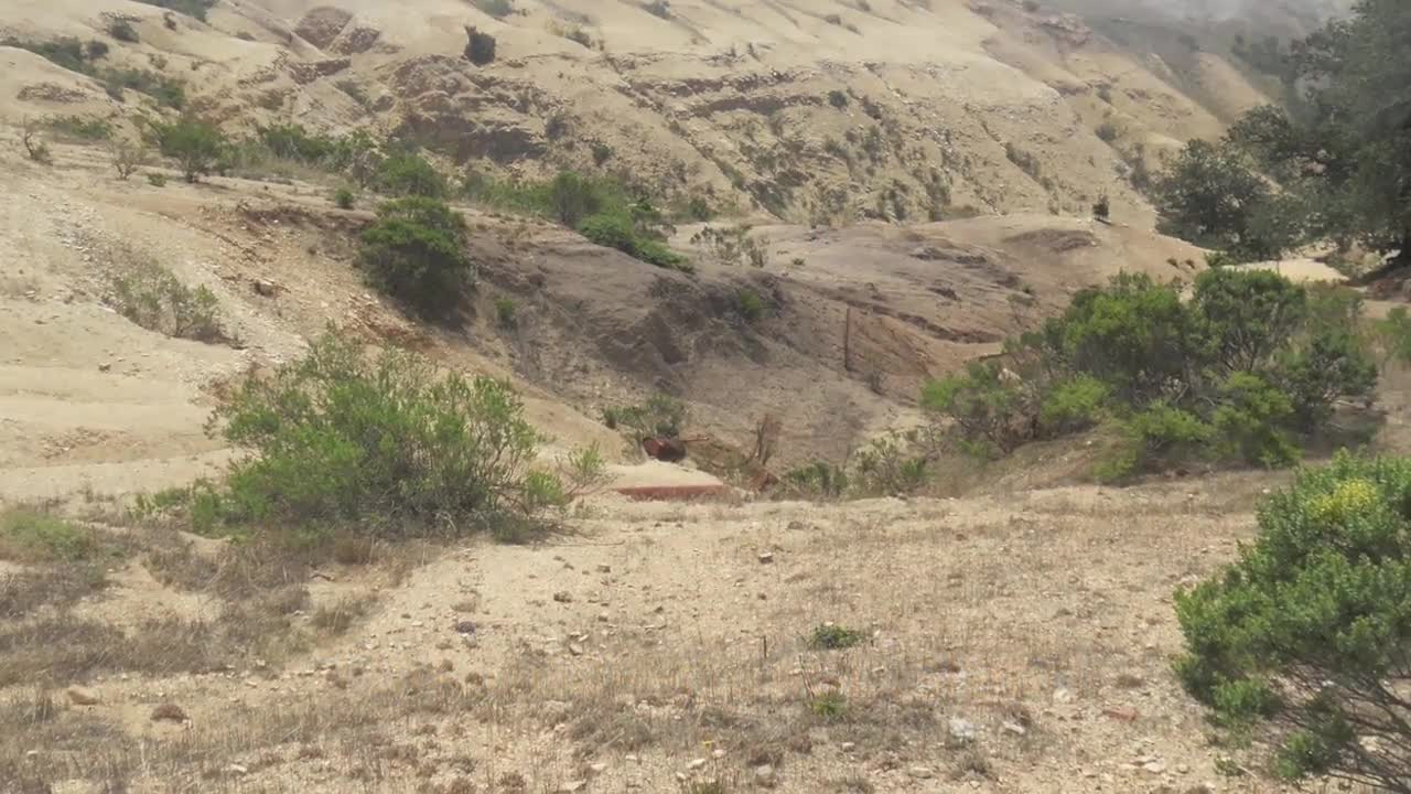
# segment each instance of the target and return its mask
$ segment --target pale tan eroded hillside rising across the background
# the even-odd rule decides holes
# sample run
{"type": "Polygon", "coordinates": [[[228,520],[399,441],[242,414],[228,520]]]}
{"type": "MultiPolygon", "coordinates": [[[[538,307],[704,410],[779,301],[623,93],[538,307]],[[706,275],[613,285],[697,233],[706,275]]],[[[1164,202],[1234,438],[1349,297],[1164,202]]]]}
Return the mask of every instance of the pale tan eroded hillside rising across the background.
{"type": "Polygon", "coordinates": [[[0,25],[83,35],[114,16],[141,34],[114,59],[189,75],[227,124],[374,126],[457,167],[601,168],[792,222],[1082,215],[1106,195],[1150,226],[1133,171],[1263,100],[1212,52],[1192,71],[1016,0],[236,0],[207,24],[20,0],[0,25]],[[463,57],[470,27],[492,62],[463,57]]]}

